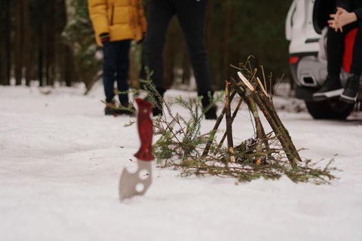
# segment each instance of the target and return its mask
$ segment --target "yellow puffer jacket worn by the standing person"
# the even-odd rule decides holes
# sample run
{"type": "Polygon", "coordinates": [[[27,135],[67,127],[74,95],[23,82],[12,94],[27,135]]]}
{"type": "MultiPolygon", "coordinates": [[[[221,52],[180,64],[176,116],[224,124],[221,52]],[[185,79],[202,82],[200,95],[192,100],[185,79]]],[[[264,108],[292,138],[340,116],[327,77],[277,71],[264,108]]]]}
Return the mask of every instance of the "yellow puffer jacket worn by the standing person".
{"type": "Polygon", "coordinates": [[[88,0],[97,43],[99,34],[109,33],[110,41],[142,39],[146,30],[141,0],[88,0]]]}

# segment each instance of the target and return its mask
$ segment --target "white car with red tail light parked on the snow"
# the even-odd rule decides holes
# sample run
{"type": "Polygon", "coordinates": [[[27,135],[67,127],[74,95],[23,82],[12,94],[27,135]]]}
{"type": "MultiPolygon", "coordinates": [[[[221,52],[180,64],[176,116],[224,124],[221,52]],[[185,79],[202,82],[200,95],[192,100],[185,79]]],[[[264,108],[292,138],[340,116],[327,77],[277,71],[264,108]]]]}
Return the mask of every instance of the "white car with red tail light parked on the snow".
{"type": "MultiPolygon", "coordinates": [[[[313,101],[312,94],[319,90],[327,76],[326,32],[329,14],[336,8],[335,0],[294,0],[285,24],[286,39],[290,41],[290,70],[296,90],[296,98],[305,101],[308,112],[314,118],[345,119],[354,109],[354,104],[339,101],[339,96],[326,101],[313,101]]],[[[353,32],[346,36],[346,45],[353,45],[353,32]],[[351,40],[352,39],[352,40],[351,40]]],[[[352,48],[345,48],[341,71],[345,85],[350,65],[352,48]]],[[[357,101],[361,101],[360,90],[357,101]]]]}

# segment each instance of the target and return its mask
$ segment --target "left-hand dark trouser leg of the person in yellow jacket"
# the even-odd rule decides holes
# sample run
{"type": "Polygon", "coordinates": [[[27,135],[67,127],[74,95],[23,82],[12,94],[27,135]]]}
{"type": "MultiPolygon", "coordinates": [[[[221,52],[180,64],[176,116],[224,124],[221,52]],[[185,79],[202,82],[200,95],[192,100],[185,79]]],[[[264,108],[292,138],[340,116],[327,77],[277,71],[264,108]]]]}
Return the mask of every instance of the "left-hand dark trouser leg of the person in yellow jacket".
{"type": "Polygon", "coordinates": [[[113,50],[114,43],[106,42],[103,44],[103,87],[105,102],[111,103],[114,98],[114,81],[116,74],[117,56],[113,50]]]}

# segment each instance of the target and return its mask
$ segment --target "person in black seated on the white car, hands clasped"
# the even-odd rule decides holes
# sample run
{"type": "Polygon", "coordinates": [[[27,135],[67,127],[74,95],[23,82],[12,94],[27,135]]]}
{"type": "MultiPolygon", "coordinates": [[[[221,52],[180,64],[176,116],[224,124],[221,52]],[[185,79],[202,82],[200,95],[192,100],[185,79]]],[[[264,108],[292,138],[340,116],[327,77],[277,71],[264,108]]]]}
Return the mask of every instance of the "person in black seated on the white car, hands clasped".
{"type": "Polygon", "coordinates": [[[337,0],[336,13],[330,14],[327,35],[328,77],[321,89],[313,94],[314,101],[323,101],[327,93],[341,93],[345,103],[356,102],[359,94],[359,80],[362,72],[362,0],[337,0]],[[339,78],[341,73],[345,34],[357,28],[352,50],[352,65],[347,83],[343,89],[339,78]]]}

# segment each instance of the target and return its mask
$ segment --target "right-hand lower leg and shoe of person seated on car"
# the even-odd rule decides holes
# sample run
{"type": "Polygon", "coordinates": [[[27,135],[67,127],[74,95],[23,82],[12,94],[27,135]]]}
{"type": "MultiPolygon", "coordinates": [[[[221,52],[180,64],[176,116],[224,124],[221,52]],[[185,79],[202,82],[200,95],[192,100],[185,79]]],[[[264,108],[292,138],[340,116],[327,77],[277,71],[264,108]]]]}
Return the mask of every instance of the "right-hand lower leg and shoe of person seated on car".
{"type": "Polygon", "coordinates": [[[347,84],[341,94],[341,101],[346,103],[356,102],[359,94],[359,80],[362,72],[362,20],[358,21],[358,30],[354,40],[352,52],[352,65],[348,74],[347,84]]]}

